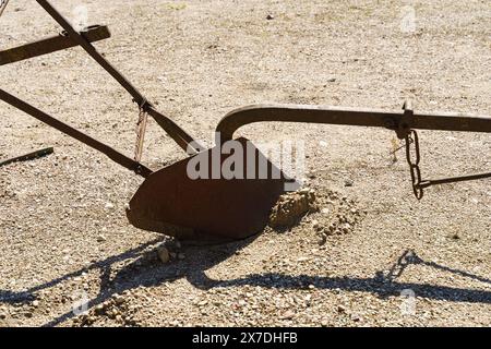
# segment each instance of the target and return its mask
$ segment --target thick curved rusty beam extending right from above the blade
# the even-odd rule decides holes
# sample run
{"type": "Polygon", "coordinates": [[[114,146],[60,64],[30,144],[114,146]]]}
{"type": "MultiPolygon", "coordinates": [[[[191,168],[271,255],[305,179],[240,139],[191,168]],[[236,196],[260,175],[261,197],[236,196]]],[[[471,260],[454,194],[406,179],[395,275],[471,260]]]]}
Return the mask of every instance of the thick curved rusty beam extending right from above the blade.
{"type": "Polygon", "coordinates": [[[223,141],[233,137],[241,127],[255,122],[308,122],[338,125],[375,127],[388,130],[404,129],[434,131],[491,132],[491,117],[450,112],[415,112],[410,119],[405,111],[356,109],[302,105],[258,105],[228,113],[216,128],[223,141]]]}

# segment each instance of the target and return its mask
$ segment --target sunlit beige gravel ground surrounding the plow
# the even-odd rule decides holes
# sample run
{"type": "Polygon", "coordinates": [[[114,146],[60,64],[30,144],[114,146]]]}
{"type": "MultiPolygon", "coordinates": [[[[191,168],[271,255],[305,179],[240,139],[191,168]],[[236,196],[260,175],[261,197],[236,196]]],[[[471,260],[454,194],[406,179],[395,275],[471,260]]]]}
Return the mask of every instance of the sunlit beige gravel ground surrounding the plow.
{"type": "MultiPolygon", "coordinates": [[[[53,2],[69,17],[79,4],[53,2]]],[[[112,32],[97,48],[208,145],[225,113],[255,103],[395,109],[411,97],[417,110],[491,115],[488,1],[84,3],[89,23],[112,32]],[[400,29],[404,5],[416,10],[412,33],[400,29]]],[[[14,1],[0,20],[1,47],[58,29],[33,1],[14,1]]],[[[81,49],[1,67],[0,80],[133,153],[131,98],[81,49]]],[[[258,142],[306,142],[319,212],[286,231],[196,248],[128,224],[140,178],[5,104],[0,113],[0,158],[56,152],[0,168],[0,326],[491,325],[489,181],[416,201],[390,131],[243,128],[258,142]],[[339,209],[349,229],[330,233],[339,209]],[[167,264],[161,243],[176,253],[167,264]],[[77,316],[85,298],[88,313],[77,316]]],[[[185,156],[154,122],[147,134],[152,168],[185,156]]],[[[420,137],[424,176],[490,168],[489,135],[420,137]]]]}

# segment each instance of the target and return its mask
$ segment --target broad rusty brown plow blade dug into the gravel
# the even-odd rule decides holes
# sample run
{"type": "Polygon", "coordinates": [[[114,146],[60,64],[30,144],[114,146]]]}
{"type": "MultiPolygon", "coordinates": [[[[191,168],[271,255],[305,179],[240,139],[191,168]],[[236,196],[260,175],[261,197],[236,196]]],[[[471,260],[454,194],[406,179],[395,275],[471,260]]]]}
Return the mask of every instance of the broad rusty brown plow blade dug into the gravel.
{"type": "Polygon", "coordinates": [[[217,166],[224,168],[235,156],[220,155],[219,146],[170,165],[152,173],[134,194],[127,209],[130,222],[201,243],[241,240],[261,232],[286,185],[296,182],[248,140],[233,142],[248,155],[230,167],[235,178],[216,173],[217,166]]]}

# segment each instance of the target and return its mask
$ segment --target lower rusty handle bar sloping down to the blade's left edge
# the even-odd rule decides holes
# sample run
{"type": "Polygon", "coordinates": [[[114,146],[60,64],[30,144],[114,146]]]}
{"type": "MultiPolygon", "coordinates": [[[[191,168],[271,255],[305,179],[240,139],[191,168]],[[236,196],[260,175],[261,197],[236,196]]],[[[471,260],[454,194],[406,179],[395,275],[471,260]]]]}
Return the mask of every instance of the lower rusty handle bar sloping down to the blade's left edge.
{"type": "Polygon", "coordinates": [[[63,132],[64,134],[68,134],[69,136],[93,147],[96,151],[99,151],[100,153],[104,153],[107,155],[111,160],[115,163],[128,168],[129,170],[132,170],[136,172],[137,174],[141,174],[142,177],[146,178],[149,174],[152,174],[152,170],[144,165],[133,160],[132,158],[119,153],[118,151],[111,148],[110,146],[91,137],[89,135],[80,132],[72,127],[48,116],[47,113],[40,111],[39,109],[28,105],[27,103],[12,96],[11,94],[4,92],[0,88],[0,99],[5,101],[7,104],[11,105],[14,108],[17,108],[25,113],[28,113],[33,118],[57,129],[60,132],[63,132]]]}

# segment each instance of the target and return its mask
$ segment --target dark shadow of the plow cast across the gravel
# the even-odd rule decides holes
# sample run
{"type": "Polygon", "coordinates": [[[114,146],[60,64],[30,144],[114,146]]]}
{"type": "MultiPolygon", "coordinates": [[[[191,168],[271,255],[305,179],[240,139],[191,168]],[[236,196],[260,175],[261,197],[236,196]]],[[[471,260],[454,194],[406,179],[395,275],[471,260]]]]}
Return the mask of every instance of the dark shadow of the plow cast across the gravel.
{"type": "MultiPolygon", "coordinates": [[[[82,273],[87,269],[98,269],[101,281],[99,293],[96,298],[88,301],[88,309],[105,302],[115,293],[121,293],[125,290],[134,289],[141,286],[151,287],[163,282],[172,282],[183,277],[187,278],[194,287],[203,290],[214,287],[236,287],[246,285],[260,286],[264,288],[303,289],[310,285],[313,285],[318,289],[361,291],[374,293],[380,298],[387,298],[392,296],[400,296],[403,290],[411,289],[416,292],[416,294],[418,294],[418,297],[427,299],[451,302],[491,303],[491,291],[418,282],[397,282],[397,277],[399,277],[409,265],[423,265],[471,278],[480,282],[491,284],[491,280],[488,278],[464,270],[450,268],[433,262],[426,262],[410,250],[404,252],[388,272],[379,272],[371,278],[349,276],[291,276],[280,273],[266,273],[252,274],[243,278],[230,280],[214,280],[206,276],[206,269],[209,269],[214,265],[227,260],[253,240],[254,239],[249,239],[240,243],[215,246],[188,246],[184,249],[185,254],[189,256],[185,261],[161,265],[155,261],[148,262],[144,258],[144,251],[148,246],[161,241],[160,239],[156,239],[141,245],[140,248],[96,262],[81,270],[63,275],[49,282],[33,287],[25,292],[0,290],[0,303],[32,302],[36,299],[35,293],[37,291],[51,288],[64,280],[81,276],[82,273]],[[132,262],[120,269],[113,277],[110,277],[113,264],[123,261],[132,262]]],[[[45,326],[59,325],[73,316],[75,316],[73,312],[68,312],[48,322],[45,326]]]]}

